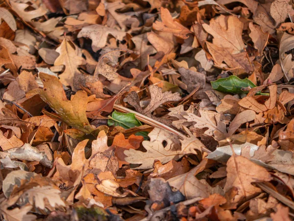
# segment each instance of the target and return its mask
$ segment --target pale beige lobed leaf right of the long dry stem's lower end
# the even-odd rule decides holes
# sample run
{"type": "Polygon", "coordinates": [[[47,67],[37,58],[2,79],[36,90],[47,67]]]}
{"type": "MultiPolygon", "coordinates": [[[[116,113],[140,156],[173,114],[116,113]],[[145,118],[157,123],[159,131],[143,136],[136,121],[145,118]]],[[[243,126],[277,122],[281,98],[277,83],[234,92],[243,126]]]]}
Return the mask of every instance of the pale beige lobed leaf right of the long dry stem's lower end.
{"type": "Polygon", "coordinates": [[[218,140],[223,139],[227,135],[226,124],[223,122],[223,116],[214,111],[199,110],[200,116],[194,113],[183,115],[188,122],[195,122],[196,128],[208,128],[204,134],[215,136],[218,140]]]}

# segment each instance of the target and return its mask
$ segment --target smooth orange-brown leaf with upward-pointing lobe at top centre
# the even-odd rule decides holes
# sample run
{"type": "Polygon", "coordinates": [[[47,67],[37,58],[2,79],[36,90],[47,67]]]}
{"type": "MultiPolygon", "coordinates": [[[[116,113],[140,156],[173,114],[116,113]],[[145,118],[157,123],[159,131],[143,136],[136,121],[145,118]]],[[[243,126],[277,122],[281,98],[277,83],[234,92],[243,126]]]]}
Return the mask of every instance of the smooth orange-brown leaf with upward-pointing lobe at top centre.
{"type": "Polygon", "coordinates": [[[162,22],[156,21],[152,28],[158,31],[170,32],[174,36],[186,39],[187,34],[192,33],[188,28],[185,28],[178,22],[174,22],[172,16],[167,8],[160,8],[160,16],[162,22]]]}

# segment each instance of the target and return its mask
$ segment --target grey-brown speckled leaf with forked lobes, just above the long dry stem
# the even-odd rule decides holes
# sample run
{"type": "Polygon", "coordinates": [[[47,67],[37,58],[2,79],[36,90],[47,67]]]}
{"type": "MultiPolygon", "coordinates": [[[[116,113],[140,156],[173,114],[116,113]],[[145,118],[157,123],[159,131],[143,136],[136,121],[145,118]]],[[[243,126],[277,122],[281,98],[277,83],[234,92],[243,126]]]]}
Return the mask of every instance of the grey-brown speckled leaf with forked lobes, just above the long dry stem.
{"type": "MultiPolygon", "coordinates": [[[[162,89],[153,84],[150,85],[148,89],[151,95],[151,100],[149,105],[145,109],[141,108],[139,96],[135,91],[130,92],[125,98],[125,101],[132,105],[136,109],[136,111],[150,118],[156,118],[152,116],[151,113],[155,111],[160,105],[168,101],[178,101],[181,99],[179,93],[172,93],[171,91],[166,91],[162,93],[162,89]]],[[[162,122],[164,119],[156,118],[156,120],[162,122]]]]}

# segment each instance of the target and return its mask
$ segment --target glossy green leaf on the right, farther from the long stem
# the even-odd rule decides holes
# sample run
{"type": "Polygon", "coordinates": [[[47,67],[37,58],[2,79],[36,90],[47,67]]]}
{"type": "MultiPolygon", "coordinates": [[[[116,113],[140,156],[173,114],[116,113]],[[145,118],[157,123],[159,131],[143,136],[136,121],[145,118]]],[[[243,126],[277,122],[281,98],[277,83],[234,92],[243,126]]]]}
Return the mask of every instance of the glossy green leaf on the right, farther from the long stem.
{"type": "Polygon", "coordinates": [[[256,85],[249,79],[240,79],[237,76],[230,76],[228,78],[221,78],[217,81],[211,82],[212,88],[225,93],[244,94],[248,93],[248,90],[244,90],[246,87],[256,87],[256,85]]]}

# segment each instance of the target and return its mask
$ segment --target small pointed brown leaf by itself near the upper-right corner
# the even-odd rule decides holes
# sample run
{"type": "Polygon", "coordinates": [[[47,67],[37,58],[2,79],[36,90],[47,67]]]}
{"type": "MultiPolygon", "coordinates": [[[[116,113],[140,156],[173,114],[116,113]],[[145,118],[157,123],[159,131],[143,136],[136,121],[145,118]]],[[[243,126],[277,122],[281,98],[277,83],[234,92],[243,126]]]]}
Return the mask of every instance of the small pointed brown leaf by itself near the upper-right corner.
{"type": "Polygon", "coordinates": [[[252,22],[249,23],[250,28],[250,38],[254,43],[254,48],[257,49],[261,55],[266,45],[268,44],[268,39],[270,34],[263,32],[260,26],[253,25],[252,22]]]}

